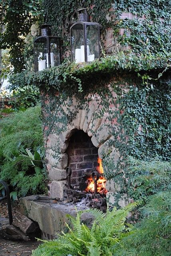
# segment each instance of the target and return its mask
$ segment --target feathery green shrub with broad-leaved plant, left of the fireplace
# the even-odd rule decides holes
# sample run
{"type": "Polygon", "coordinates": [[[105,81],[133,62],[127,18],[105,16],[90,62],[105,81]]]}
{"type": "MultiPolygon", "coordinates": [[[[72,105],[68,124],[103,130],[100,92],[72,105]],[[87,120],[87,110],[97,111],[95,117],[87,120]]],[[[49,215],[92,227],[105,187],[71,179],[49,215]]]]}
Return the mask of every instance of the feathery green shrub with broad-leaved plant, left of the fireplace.
{"type": "Polygon", "coordinates": [[[16,112],[0,121],[0,179],[18,196],[44,191],[40,106],[16,112]]]}

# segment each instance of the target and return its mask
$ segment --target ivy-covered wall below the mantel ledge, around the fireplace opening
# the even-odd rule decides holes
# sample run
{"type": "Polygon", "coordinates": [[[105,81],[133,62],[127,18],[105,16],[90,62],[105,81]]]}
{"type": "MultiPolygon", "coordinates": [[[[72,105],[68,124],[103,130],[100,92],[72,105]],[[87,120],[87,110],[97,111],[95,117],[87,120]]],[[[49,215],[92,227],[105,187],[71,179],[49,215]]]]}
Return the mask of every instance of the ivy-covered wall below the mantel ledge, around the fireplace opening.
{"type": "Polygon", "coordinates": [[[167,79],[147,86],[141,81],[135,74],[122,73],[90,82],[80,93],[69,87],[60,90],[41,88],[51,195],[57,196],[56,186],[58,192],[65,188],[64,169],[68,163],[65,152],[74,129],[87,132],[94,146],[99,147],[111,205],[119,203],[123,206],[128,200],[129,156],[143,160],[170,160],[167,79]]]}

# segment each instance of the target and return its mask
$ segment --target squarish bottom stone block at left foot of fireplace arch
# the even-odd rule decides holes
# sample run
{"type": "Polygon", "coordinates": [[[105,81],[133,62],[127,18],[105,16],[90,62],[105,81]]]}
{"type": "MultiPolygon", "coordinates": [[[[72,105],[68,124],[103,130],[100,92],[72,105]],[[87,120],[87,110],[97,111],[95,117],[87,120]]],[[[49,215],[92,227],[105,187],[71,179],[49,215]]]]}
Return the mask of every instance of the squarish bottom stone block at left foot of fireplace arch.
{"type": "Polygon", "coordinates": [[[66,189],[66,180],[52,180],[49,184],[50,197],[63,199],[64,189],[66,189]]]}

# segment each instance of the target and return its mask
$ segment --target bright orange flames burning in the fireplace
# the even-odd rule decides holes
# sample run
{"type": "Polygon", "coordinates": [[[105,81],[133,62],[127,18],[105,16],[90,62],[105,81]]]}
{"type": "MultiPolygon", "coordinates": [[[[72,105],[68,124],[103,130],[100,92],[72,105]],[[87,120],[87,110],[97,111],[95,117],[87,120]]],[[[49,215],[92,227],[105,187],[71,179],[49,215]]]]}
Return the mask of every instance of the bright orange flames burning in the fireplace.
{"type": "MultiPolygon", "coordinates": [[[[103,166],[102,166],[102,161],[100,158],[97,159],[97,163],[99,164],[99,166],[97,166],[96,170],[97,172],[99,172],[99,174],[103,174],[103,166]]],[[[88,180],[88,186],[86,188],[85,191],[87,192],[94,192],[94,181],[92,179],[92,177],[87,178],[88,180]]],[[[100,194],[106,194],[107,190],[105,189],[105,183],[106,183],[106,179],[102,176],[99,177],[99,180],[97,180],[97,192],[99,192],[100,194]]]]}

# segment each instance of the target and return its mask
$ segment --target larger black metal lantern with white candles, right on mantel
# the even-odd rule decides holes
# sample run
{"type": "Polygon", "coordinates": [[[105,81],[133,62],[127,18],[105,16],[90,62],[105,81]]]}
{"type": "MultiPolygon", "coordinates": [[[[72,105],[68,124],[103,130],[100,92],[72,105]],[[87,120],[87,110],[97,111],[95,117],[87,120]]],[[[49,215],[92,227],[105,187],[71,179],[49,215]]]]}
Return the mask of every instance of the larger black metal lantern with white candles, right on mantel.
{"type": "Polygon", "coordinates": [[[92,62],[100,56],[100,25],[89,22],[87,8],[76,12],[79,22],[70,28],[72,61],[92,62]]]}

